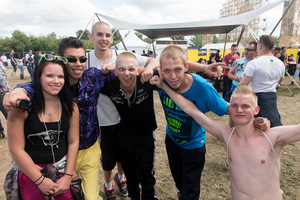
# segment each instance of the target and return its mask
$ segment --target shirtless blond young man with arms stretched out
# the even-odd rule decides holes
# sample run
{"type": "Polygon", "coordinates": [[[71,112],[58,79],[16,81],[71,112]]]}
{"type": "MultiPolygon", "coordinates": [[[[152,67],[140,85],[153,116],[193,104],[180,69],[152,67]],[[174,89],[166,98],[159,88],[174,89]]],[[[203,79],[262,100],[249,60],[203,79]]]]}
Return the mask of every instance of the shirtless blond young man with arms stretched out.
{"type": "Polygon", "coordinates": [[[300,124],[265,132],[255,128],[254,115],[259,107],[249,86],[237,87],[231,97],[229,113],[235,128],[230,128],[209,119],[191,101],[162,84],[157,76],[150,82],[165,90],[178,107],[222,142],[228,152],[233,200],[282,199],[280,153],[284,145],[300,140],[300,124]]]}

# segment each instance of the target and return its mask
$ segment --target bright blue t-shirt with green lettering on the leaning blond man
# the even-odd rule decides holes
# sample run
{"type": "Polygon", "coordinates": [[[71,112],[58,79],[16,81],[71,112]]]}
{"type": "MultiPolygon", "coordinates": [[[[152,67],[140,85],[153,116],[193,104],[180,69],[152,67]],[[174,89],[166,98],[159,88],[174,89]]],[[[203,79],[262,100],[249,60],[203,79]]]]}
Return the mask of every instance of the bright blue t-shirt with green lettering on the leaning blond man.
{"type": "MultiPolygon", "coordinates": [[[[203,113],[212,111],[222,116],[227,111],[227,102],[217,93],[211,83],[201,76],[191,74],[191,88],[181,93],[192,101],[203,113]]],[[[185,114],[165,91],[158,89],[160,100],[167,120],[167,135],[184,149],[196,149],[205,144],[205,130],[189,115],[185,114]]]]}

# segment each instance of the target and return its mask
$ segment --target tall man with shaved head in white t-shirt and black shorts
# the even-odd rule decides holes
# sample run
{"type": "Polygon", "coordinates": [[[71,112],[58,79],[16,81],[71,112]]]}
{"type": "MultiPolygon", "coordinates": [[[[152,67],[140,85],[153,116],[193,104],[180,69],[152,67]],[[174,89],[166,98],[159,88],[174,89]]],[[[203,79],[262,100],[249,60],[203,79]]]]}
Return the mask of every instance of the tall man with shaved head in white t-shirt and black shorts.
{"type": "MultiPolygon", "coordinates": [[[[116,59],[122,51],[113,51],[110,45],[113,42],[113,34],[110,26],[105,22],[97,22],[92,27],[92,33],[89,38],[94,43],[94,50],[89,53],[88,68],[96,67],[102,69],[102,66],[115,65],[116,59]]],[[[146,67],[151,69],[158,66],[156,59],[140,56],[135,54],[138,67],[146,67]]],[[[142,74],[142,81],[147,78],[147,72],[142,74]]],[[[150,79],[150,77],[148,77],[150,79]]],[[[122,165],[119,162],[118,155],[118,142],[119,142],[119,127],[120,116],[112,103],[112,101],[104,94],[99,95],[97,105],[98,121],[101,130],[100,134],[100,147],[101,147],[101,166],[104,171],[104,193],[108,200],[116,199],[114,195],[114,187],[112,184],[111,176],[112,170],[117,165],[118,172],[114,175],[114,181],[122,196],[127,196],[126,178],[122,165]]]]}

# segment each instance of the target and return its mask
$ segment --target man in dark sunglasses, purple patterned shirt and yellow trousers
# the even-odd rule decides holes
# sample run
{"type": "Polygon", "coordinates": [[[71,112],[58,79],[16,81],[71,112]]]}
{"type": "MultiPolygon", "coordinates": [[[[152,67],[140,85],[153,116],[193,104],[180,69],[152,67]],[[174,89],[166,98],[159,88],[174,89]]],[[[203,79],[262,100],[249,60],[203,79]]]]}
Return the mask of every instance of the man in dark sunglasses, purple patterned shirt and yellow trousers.
{"type": "MultiPolygon", "coordinates": [[[[62,39],[59,43],[58,53],[66,60],[53,55],[43,56],[42,59],[64,59],[62,61],[67,63],[70,90],[80,114],[80,143],[75,169],[82,179],[85,200],[99,200],[101,151],[98,142],[100,132],[97,119],[97,100],[104,83],[111,81],[115,76],[113,73],[103,75],[99,69],[94,67],[85,70],[86,49],[83,42],[75,37],[62,39]]],[[[4,100],[6,109],[16,106],[16,102],[20,99],[30,100],[33,98],[32,83],[21,84],[17,87],[23,87],[26,92],[24,93],[24,89],[17,88],[7,95],[7,101],[4,100]]]]}

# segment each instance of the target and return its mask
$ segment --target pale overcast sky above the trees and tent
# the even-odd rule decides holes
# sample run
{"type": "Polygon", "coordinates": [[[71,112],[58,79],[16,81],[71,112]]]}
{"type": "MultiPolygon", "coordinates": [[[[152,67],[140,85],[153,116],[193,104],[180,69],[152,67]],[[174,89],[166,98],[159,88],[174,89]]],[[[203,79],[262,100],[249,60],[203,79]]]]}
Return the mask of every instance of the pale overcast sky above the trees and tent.
{"type": "MultiPolygon", "coordinates": [[[[270,3],[277,0],[269,0],[270,3]]],[[[76,36],[94,13],[129,22],[159,24],[218,19],[226,0],[1,0],[0,37],[11,37],[14,30],[41,36],[76,36]]],[[[266,12],[269,34],[282,15],[283,3],[266,12]]],[[[96,19],[95,19],[96,20],[96,19]]],[[[261,28],[263,25],[261,26],[261,28]]],[[[91,25],[88,27],[90,30],[91,25]]],[[[264,32],[260,32],[262,34],[264,32]]],[[[273,35],[279,36],[280,27],[273,35]]]]}

